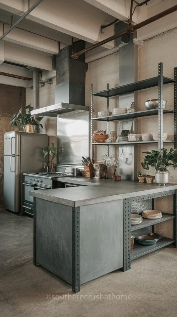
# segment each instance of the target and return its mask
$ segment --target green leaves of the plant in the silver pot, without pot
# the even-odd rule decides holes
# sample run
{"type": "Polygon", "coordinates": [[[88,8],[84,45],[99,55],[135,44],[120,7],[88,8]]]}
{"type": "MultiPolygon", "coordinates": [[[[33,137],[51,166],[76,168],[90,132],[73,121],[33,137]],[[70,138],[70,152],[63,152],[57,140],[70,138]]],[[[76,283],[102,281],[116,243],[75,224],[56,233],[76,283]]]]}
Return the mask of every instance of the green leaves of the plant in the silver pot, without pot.
{"type": "Polygon", "coordinates": [[[144,158],[144,162],[141,163],[145,170],[149,170],[149,166],[153,166],[156,171],[167,171],[167,166],[172,165],[177,167],[177,149],[170,149],[167,153],[167,149],[162,149],[162,155],[160,151],[143,152],[147,155],[144,158]]]}

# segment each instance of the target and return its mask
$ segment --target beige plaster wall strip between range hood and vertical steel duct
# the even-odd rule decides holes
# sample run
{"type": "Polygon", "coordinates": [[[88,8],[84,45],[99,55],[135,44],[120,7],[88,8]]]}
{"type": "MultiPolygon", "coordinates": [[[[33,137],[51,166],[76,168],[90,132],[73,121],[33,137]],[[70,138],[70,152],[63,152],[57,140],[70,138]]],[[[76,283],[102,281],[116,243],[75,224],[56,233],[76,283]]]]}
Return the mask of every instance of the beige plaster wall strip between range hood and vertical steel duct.
{"type": "MultiPolygon", "coordinates": [[[[88,64],[88,71],[86,72],[86,95],[85,104],[91,105],[91,84],[93,84],[93,92],[104,90],[107,88],[119,86],[119,52],[112,55],[92,61],[88,64]]],[[[109,109],[113,113],[113,109],[119,107],[119,97],[109,98],[109,109]]],[[[107,110],[107,98],[93,97],[93,117],[97,117],[100,110],[107,110]]],[[[93,122],[94,130],[107,130],[106,122],[93,122]]],[[[115,130],[118,133],[118,123],[110,122],[109,131],[115,130]]],[[[94,146],[94,159],[100,160],[103,154],[107,153],[107,146],[94,146]]],[[[118,146],[109,146],[109,154],[118,157],[118,146]]],[[[113,168],[108,168],[108,176],[111,177],[113,168]]]]}

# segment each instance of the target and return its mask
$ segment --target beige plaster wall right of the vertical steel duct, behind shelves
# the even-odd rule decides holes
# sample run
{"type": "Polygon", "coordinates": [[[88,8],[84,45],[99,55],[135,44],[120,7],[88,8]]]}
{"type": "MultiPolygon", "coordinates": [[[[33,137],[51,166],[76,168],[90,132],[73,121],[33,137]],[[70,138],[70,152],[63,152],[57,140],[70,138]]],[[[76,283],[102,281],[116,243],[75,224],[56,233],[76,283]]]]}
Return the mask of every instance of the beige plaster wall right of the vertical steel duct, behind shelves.
{"type": "MultiPolygon", "coordinates": [[[[142,47],[139,47],[139,68],[138,68],[138,80],[154,77],[158,75],[158,63],[163,63],[164,76],[174,78],[174,67],[177,67],[177,29],[166,32],[160,36],[156,36],[150,40],[144,42],[142,47]]],[[[158,88],[149,88],[142,90],[138,93],[138,110],[144,110],[144,102],[149,99],[158,98],[158,88]]],[[[163,99],[167,100],[168,109],[174,109],[174,84],[168,84],[163,86],[163,99]]],[[[167,114],[163,116],[163,131],[168,133],[168,139],[174,139],[174,115],[167,114]]],[[[158,117],[151,116],[145,118],[139,118],[138,120],[139,133],[153,133],[158,132],[158,117]]],[[[164,143],[164,147],[168,150],[174,147],[173,143],[164,143]]],[[[149,168],[149,171],[143,170],[141,162],[145,154],[144,151],[157,150],[158,145],[139,145],[138,153],[138,170],[142,173],[155,175],[154,168],[149,168]]],[[[170,175],[173,178],[169,178],[169,183],[177,183],[177,170],[173,167],[169,169],[170,175]]],[[[164,212],[173,213],[173,196],[168,196],[155,200],[155,209],[162,210],[164,212]]],[[[156,232],[173,238],[173,220],[169,220],[164,223],[160,223],[155,226],[156,232]]]]}

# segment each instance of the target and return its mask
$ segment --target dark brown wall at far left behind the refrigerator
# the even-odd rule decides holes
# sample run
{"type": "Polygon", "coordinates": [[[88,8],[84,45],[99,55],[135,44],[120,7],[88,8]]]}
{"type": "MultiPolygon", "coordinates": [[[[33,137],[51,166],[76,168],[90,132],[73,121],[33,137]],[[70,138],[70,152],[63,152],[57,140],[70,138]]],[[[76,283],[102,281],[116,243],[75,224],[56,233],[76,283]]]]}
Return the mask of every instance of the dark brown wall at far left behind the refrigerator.
{"type": "MultiPolygon", "coordinates": [[[[0,84],[0,203],[3,199],[4,133],[11,131],[13,114],[25,107],[25,88],[0,84]],[[20,92],[21,90],[21,92],[20,92]]],[[[16,130],[16,129],[14,129],[16,130]]]]}

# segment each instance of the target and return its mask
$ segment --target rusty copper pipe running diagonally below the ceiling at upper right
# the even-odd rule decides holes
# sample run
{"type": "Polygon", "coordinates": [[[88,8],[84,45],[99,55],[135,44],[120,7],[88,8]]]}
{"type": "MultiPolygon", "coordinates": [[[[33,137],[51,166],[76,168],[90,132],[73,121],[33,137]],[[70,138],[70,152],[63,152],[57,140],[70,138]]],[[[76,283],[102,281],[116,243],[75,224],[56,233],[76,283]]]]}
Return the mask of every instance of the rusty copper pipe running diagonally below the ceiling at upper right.
{"type": "Polygon", "coordinates": [[[130,25],[127,29],[125,29],[124,31],[122,31],[122,32],[120,32],[120,33],[118,33],[118,34],[115,34],[115,35],[113,35],[113,36],[110,36],[110,37],[108,37],[107,39],[105,39],[105,40],[103,40],[103,41],[101,41],[101,42],[98,42],[98,43],[96,43],[96,44],[93,44],[93,45],[87,47],[86,49],[83,49],[83,50],[81,50],[81,51],[79,51],[79,52],[77,52],[77,53],[74,53],[74,52],[73,52],[71,56],[72,56],[74,59],[77,59],[78,56],[80,56],[80,55],[82,55],[82,54],[85,54],[85,53],[91,51],[92,49],[96,49],[97,47],[99,47],[99,46],[101,46],[101,45],[103,45],[103,44],[106,44],[106,43],[108,43],[108,42],[110,42],[110,41],[112,41],[112,40],[115,40],[115,39],[117,39],[118,37],[121,37],[121,36],[124,35],[124,34],[133,33],[134,31],[136,31],[136,30],[142,28],[143,26],[148,25],[148,24],[150,24],[150,23],[152,23],[152,22],[154,22],[154,21],[156,21],[156,20],[162,18],[163,16],[167,16],[168,14],[170,14],[170,13],[176,11],[176,10],[177,10],[177,5],[174,5],[173,7],[169,8],[169,9],[167,9],[167,10],[164,10],[164,11],[162,11],[162,12],[156,14],[155,16],[152,16],[152,17],[150,17],[149,19],[147,19],[147,20],[145,20],[145,21],[143,21],[143,22],[140,22],[140,23],[138,23],[138,24],[136,24],[136,25],[133,25],[133,24],[132,24],[132,25],[130,25]]]}

